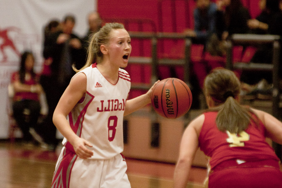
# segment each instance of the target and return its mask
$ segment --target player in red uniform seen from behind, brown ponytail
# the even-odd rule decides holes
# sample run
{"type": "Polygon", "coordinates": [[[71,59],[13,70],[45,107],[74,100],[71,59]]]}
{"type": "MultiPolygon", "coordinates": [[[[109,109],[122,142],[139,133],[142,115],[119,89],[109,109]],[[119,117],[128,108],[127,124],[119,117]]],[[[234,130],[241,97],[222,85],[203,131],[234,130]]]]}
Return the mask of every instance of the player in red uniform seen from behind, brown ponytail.
{"type": "Polygon", "coordinates": [[[209,110],[194,119],[183,134],[174,187],[186,187],[200,147],[210,157],[209,188],[281,188],[279,159],[265,138],[282,144],[282,123],[238,103],[240,82],[230,70],[213,70],[204,89],[209,110]]]}

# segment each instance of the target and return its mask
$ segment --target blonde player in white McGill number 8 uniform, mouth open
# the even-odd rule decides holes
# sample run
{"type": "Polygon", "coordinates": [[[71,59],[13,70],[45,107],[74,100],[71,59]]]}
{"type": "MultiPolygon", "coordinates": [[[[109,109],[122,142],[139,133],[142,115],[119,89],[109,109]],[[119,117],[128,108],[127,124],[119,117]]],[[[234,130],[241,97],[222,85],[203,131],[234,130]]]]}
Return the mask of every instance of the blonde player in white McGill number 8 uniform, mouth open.
{"type": "Polygon", "coordinates": [[[123,116],[151,102],[154,87],[126,100],[130,36],[108,23],[91,38],[86,65],[70,81],[53,122],[65,137],[52,188],[130,188],[123,151],[123,116]],[[97,63],[92,64],[94,58],[97,63]],[[67,119],[66,119],[67,117],[67,119]]]}

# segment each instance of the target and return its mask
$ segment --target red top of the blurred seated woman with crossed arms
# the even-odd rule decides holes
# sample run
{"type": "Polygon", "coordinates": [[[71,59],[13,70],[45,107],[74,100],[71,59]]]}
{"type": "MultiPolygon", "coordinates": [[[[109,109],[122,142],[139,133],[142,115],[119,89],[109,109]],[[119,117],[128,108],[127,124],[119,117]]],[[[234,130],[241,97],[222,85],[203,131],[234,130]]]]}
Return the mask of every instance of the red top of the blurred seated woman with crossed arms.
{"type": "MultiPolygon", "coordinates": [[[[12,78],[11,78],[11,82],[16,82],[19,81],[19,73],[18,72],[14,72],[12,74],[12,78]]],[[[38,84],[38,82],[34,79],[32,79],[32,77],[30,76],[29,79],[25,79],[24,80],[24,84],[26,85],[35,85],[38,84]]],[[[32,92],[16,92],[14,95],[14,101],[21,101],[24,99],[31,99],[34,101],[39,101],[39,97],[37,93],[32,93],[32,92]]]]}

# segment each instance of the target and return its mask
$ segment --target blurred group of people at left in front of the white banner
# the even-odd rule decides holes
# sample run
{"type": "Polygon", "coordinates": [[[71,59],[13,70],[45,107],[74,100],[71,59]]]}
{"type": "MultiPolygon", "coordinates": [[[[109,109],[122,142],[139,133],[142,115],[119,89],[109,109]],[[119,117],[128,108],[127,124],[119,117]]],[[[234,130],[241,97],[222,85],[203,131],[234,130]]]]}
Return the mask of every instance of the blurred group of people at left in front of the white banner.
{"type": "Polygon", "coordinates": [[[97,12],[87,17],[88,30],[83,38],[73,32],[76,18],[66,15],[62,21],[52,19],[44,27],[44,63],[39,74],[34,72],[34,55],[30,51],[21,54],[19,70],[12,74],[13,117],[23,133],[24,144],[38,145],[54,151],[58,145],[56,127],[52,116],[57,103],[71,77],[72,66],[80,69],[86,63],[90,36],[101,28],[102,20],[97,12]],[[48,106],[47,114],[40,113],[41,95],[48,106]],[[41,118],[41,121],[39,119],[41,118]],[[42,120],[43,118],[43,120],[42,120]]]}

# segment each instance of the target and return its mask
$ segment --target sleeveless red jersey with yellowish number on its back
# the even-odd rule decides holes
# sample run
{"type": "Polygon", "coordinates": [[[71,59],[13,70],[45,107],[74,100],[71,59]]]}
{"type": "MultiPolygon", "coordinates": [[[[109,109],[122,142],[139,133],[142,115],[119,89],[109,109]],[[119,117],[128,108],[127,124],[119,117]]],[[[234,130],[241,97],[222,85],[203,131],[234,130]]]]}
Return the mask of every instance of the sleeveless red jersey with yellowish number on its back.
{"type": "MultiPolygon", "coordinates": [[[[251,120],[248,128],[239,134],[221,132],[216,125],[217,112],[206,112],[205,121],[199,135],[200,149],[210,157],[211,169],[223,161],[230,159],[257,161],[278,157],[274,149],[265,140],[266,129],[258,120],[259,126],[251,120]]],[[[258,119],[253,115],[254,119],[258,119]]]]}

